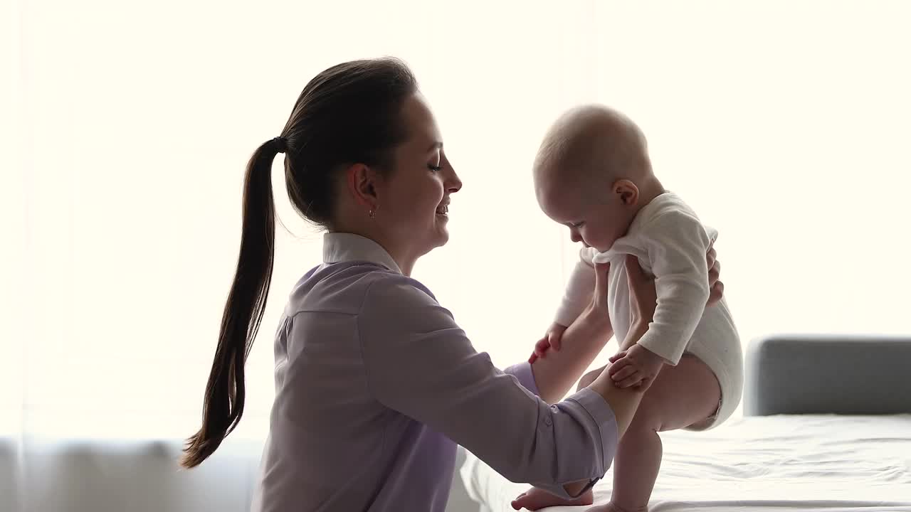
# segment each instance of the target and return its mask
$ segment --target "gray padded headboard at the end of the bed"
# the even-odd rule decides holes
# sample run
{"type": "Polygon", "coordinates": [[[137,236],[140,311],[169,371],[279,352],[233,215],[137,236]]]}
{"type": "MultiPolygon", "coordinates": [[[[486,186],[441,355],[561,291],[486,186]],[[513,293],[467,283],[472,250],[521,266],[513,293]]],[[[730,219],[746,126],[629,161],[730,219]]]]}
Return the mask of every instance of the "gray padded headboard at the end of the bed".
{"type": "Polygon", "coordinates": [[[911,338],[768,336],[744,364],[743,415],[911,413],[911,338]]]}

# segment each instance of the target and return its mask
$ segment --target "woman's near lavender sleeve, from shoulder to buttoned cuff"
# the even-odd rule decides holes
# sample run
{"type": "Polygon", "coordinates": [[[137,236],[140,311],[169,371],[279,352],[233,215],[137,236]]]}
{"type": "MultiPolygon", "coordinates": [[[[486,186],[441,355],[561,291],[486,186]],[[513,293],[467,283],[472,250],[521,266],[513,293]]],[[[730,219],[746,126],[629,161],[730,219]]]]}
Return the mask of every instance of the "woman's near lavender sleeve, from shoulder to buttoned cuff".
{"type": "MultiPolygon", "coordinates": [[[[594,484],[604,476],[618,442],[604,398],[584,389],[546,404],[518,383],[521,375],[506,374],[477,353],[452,313],[415,283],[404,276],[374,282],[358,315],[376,399],[465,446],[513,482],[568,498],[565,484],[594,484]]],[[[520,367],[513,370],[521,374],[520,367]]]]}

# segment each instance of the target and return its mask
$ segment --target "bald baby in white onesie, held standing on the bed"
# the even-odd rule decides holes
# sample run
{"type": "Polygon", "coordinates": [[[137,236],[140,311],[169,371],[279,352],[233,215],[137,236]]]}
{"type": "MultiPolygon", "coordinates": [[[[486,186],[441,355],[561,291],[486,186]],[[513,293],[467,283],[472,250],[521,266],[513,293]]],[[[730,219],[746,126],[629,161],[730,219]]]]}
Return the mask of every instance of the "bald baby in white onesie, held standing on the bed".
{"type": "MultiPolygon", "coordinates": [[[[658,433],[720,425],[740,403],[742,353],[731,312],[723,300],[705,306],[705,254],[716,233],[661,186],[640,128],[609,108],[575,108],[559,118],[538,151],[534,174],[541,209],[584,245],[548,330],[550,344],[589,304],[593,262],[609,263],[610,323],[619,342],[609,374],[619,387],[638,386],[645,393],[619,441],[610,503],[592,510],[644,511],[661,465],[658,433]],[[628,254],[655,277],[658,298],[648,332],[631,344],[625,341],[628,254]]],[[[580,385],[602,370],[587,374],[580,385]]],[[[590,488],[571,502],[532,488],[513,507],[590,505],[592,498],[590,488]]]]}

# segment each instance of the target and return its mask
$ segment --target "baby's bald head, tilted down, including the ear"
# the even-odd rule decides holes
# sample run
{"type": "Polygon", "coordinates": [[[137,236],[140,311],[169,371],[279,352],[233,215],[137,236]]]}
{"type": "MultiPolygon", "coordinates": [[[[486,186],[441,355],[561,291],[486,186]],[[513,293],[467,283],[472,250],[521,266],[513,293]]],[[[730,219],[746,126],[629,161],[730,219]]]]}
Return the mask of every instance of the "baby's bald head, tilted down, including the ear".
{"type": "Polygon", "coordinates": [[[538,149],[541,210],[569,227],[573,241],[607,251],[642,206],[660,194],[645,136],[630,118],[600,106],[558,118],[538,149]]]}

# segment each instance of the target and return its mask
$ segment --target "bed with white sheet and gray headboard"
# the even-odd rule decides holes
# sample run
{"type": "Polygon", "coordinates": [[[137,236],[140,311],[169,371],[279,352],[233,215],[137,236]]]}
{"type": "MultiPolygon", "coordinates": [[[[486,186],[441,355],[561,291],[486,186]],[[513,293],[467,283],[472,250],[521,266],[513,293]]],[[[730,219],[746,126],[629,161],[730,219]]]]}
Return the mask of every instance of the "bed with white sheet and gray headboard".
{"type": "MultiPolygon", "coordinates": [[[[772,336],[744,364],[742,417],[661,435],[652,512],[911,512],[911,339],[772,336]]],[[[527,488],[470,453],[460,473],[481,512],[527,488]]]]}

